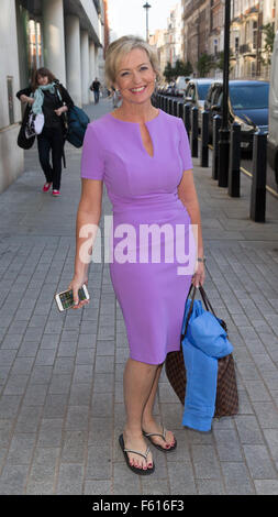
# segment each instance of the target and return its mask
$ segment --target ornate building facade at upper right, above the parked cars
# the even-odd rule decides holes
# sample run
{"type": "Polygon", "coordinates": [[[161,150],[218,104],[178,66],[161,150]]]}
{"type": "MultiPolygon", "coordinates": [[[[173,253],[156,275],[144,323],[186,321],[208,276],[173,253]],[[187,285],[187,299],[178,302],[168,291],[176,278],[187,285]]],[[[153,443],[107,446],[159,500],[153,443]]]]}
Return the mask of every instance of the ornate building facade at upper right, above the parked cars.
{"type": "MultiPolygon", "coordinates": [[[[224,50],[224,0],[182,0],[184,61],[197,72],[203,53],[214,62],[224,50]]],[[[270,24],[278,30],[278,0],[231,0],[231,78],[268,78],[263,28],[270,24]]],[[[211,76],[221,75],[211,69],[211,76]]]]}

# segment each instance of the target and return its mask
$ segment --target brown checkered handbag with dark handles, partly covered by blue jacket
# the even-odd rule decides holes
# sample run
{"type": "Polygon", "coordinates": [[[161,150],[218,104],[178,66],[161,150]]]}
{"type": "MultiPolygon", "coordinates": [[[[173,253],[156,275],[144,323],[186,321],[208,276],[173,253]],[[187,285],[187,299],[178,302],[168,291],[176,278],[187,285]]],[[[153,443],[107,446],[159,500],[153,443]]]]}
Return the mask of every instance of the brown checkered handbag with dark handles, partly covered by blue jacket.
{"type": "MultiPolygon", "coordinates": [[[[192,285],[189,289],[188,297],[191,293],[192,285]]],[[[199,287],[204,307],[213,316],[214,310],[208,299],[208,296],[203,287],[199,287]]],[[[193,297],[196,289],[193,293],[193,297]]],[[[193,301],[192,297],[192,301],[193,301]]],[[[215,316],[216,318],[216,316],[215,316]]],[[[223,320],[220,320],[221,326],[226,331],[226,324],[223,320]]],[[[185,330],[186,333],[186,330],[185,330]]],[[[185,338],[185,333],[181,333],[180,342],[185,338]]],[[[182,353],[182,346],[178,352],[169,352],[165,362],[165,371],[169,383],[171,384],[176,395],[180,399],[181,404],[185,405],[187,374],[182,353]]],[[[215,398],[215,411],[214,418],[236,415],[238,413],[238,394],[236,386],[235,366],[233,354],[225,355],[218,360],[218,385],[216,385],[216,398],[215,398]]]]}

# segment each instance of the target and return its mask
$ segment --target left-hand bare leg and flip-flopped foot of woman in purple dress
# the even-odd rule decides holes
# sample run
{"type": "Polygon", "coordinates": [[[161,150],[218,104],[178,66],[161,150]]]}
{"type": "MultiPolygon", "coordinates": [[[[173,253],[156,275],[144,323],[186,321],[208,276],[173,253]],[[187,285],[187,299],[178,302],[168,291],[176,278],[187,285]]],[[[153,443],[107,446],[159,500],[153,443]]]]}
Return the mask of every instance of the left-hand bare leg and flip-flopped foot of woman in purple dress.
{"type": "MultiPolygon", "coordinates": [[[[126,449],[145,453],[146,441],[142,433],[142,416],[148,400],[157,365],[141,363],[129,359],[123,375],[124,403],[126,410],[126,424],[123,431],[124,446],[126,449]]],[[[141,469],[152,465],[152,453],[147,461],[144,458],[129,453],[130,463],[141,469]]]]}

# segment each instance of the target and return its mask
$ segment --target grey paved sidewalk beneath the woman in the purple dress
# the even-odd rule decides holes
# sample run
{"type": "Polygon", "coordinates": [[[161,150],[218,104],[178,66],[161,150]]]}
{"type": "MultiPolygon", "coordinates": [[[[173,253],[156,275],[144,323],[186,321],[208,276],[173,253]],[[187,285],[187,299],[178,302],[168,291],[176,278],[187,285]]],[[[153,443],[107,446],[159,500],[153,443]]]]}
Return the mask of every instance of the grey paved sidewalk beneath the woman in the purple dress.
{"type": "MultiPolygon", "coordinates": [[[[94,118],[111,100],[88,107],[94,118]]],[[[156,415],[175,430],[156,472],[133,475],[118,446],[127,342],[108,264],[92,265],[91,304],[59,314],[73,275],[80,151],[67,146],[62,198],[42,194],[36,150],[0,196],[0,494],[278,494],[278,201],[248,219],[251,182],[231,199],[194,160],[213,307],[235,348],[240,415],[213,431],[181,427],[165,373],[156,415]]],[[[103,200],[103,213],[111,213],[103,200]]]]}

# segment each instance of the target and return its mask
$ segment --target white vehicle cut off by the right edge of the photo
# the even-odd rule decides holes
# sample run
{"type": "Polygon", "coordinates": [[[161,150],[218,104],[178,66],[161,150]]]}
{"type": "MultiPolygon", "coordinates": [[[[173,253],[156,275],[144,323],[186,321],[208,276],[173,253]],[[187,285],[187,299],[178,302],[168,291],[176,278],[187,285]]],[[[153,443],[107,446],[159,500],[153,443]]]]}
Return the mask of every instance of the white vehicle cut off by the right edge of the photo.
{"type": "Polygon", "coordinates": [[[271,57],[268,120],[267,160],[275,172],[275,179],[278,186],[278,32],[276,33],[271,57]]]}

